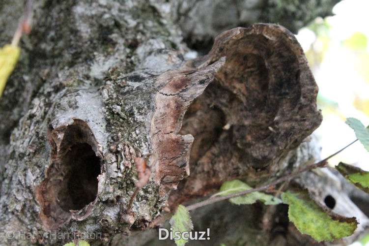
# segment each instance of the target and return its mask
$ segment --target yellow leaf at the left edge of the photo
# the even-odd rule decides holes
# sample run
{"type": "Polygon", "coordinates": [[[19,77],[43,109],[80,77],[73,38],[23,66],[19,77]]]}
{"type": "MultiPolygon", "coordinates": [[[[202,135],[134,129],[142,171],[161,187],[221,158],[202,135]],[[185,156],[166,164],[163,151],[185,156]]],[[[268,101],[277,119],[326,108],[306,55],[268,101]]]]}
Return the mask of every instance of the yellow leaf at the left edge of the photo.
{"type": "Polygon", "coordinates": [[[0,49],[0,97],[20,54],[21,49],[17,46],[7,44],[0,49]]]}

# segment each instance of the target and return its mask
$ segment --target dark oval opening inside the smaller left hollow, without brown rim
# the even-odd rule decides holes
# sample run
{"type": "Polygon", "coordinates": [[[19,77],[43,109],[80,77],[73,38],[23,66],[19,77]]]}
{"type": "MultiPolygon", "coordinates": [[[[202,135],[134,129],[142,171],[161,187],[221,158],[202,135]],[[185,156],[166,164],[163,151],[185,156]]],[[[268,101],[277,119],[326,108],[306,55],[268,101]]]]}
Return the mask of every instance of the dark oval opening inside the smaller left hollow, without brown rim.
{"type": "Polygon", "coordinates": [[[96,198],[101,165],[92,146],[96,140],[84,122],[67,126],[56,160],[63,174],[57,201],[64,211],[80,210],[96,198]]]}

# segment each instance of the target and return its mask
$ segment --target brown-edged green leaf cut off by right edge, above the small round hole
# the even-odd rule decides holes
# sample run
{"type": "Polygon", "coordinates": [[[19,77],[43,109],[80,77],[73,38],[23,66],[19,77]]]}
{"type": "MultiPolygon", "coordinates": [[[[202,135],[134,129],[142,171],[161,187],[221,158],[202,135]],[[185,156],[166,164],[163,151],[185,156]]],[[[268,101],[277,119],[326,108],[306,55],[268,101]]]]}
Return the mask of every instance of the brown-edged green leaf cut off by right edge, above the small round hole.
{"type": "Polygon", "coordinates": [[[340,162],[336,169],[356,187],[369,193],[369,172],[343,162],[340,162]]]}

